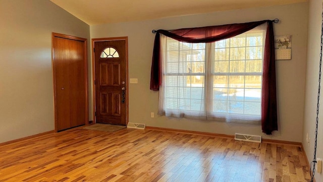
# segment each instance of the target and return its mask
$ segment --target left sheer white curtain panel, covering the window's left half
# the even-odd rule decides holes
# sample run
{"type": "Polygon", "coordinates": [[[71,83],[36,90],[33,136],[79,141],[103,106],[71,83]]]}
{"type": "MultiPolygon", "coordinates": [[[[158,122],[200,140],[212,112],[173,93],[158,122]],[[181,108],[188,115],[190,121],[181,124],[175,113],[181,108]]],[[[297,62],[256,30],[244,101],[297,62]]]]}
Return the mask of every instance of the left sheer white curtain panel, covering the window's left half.
{"type": "Polygon", "coordinates": [[[164,72],[158,114],[205,119],[205,43],[160,36],[164,72]]]}

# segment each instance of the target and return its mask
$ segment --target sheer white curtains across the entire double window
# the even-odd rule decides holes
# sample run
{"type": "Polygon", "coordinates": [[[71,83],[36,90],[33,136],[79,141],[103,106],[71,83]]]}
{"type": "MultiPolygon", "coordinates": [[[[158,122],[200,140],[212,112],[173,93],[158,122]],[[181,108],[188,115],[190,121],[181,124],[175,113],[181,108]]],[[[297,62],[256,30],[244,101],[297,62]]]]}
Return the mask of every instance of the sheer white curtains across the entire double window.
{"type": "Polygon", "coordinates": [[[160,35],[163,83],[158,114],[259,123],[266,24],[213,43],[160,35]]]}

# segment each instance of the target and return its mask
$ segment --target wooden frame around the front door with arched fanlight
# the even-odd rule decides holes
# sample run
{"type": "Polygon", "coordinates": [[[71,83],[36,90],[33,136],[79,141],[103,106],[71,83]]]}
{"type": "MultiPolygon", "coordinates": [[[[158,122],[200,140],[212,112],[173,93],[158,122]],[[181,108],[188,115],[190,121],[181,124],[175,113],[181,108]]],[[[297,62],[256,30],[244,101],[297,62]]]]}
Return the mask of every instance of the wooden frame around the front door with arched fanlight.
{"type": "Polygon", "coordinates": [[[94,42],[96,41],[113,41],[113,40],[125,40],[126,41],[126,125],[129,122],[129,78],[128,78],[128,37],[105,37],[105,38],[92,38],[92,89],[93,89],[93,124],[96,123],[96,115],[95,115],[95,57],[94,57],[94,42]]]}

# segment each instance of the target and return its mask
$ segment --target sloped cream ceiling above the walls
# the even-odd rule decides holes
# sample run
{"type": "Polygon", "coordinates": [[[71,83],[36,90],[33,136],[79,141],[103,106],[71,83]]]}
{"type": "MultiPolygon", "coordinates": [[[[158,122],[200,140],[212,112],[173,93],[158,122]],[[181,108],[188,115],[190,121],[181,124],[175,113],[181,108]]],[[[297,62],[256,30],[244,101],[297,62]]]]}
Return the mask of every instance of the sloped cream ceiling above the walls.
{"type": "Polygon", "coordinates": [[[50,0],[89,25],[140,21],[308,0],[50,0]]]}

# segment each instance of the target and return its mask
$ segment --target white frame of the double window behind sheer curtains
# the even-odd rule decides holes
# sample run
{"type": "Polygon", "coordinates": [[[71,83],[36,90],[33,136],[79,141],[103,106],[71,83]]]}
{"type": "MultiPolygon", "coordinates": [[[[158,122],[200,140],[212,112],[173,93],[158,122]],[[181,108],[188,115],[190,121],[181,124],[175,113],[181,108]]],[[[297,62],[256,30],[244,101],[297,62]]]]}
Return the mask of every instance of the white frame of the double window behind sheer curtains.
{"type": "MultiPolygon", "coordinates": [[[[164,88],[161,89],[161,92],[164,92],[165,93],[162,93],[160,94],[159,96],[159,108],[161,107],[162,109],[159,109],[158,111],[158,114],[164,114],[166,116],[174,116],[174,117],[185,117],[185,116],[189,116],[188,118],[190,118],[190,116],[194,119],[194,118],[203,118],[203,119],[212,119],[212,120],[223,120],[223,121],[229,121],[229,122],[245,122],[246,120],[250,120],[251,122],[254,122],[256,121],[257,123],[260,122],[260,119],[261,119],[261,94],[260,94],[260,105],[259,105],[259,114],[257,115],[250,115],[250,114],[230,114],[228,115],[228,109],[227,109],[227,112],[214,112],[213,111],[213,76],[220,76],[220,75],[224,75],[224,76],[232,76],[232,75],[237,75],[237,76],[261,76],[261,79],[262,79],[262,71],[263,71],[263,53],[264,53],[264,41],[265,41],[265,31],[257,31],[257,33],[261,32],[262,33],[262,58],[261,58],[261,72],[235,72],[235,73],[230,73],[230,72],[227,72],[227,73],[216,73],[214,72],[214,52],[215,52],[215,43],[206,43],[205,44],[205,62],[204,62],[204,73],[171,73],[168,71],[167,69],[167,55],[164,53],[163,55],[163,60],[165,60],[165,62],[163,61],[163,70],[164,70],[164,85],[165,87],[167,87],[167,81],[168,81],[168,76],[204,76],[204,102],[208,103],[208,104],[205,104],[204,103],[204,110],[202,111],[192,111],[192,110],[189,110],[189,114],[182,114],[181,111],[178,111],[178,110],[181,110],[181,109],[169,109],[171,111],[171,113],[173,112],[178,112],[178,114],[168,114],[166,112],[166,109],[167,109],[167,104],[164,101],[161,101],[160,102],[160,97],[162,97],[162,99],[167,99],[167,96],[168,96],[168,93],[167,93],[167,89],[164,90],[164,88]],[[206,52],[211,52],[210,54],[207,54],[206,52]],[[207,57],[207,55],[211,55],[211,58],[207,57]],[[212,69],[213,68],[213,69],[212,69]],[[201,112],[204,112],[204,114],[201,114],[201,112]],[[196,116],[196,117],[195,117],[196,116]]],[[[243,34],[240,34],[238,36],[247,36],[247,34],[254,34],[256,33],[255,31],[253,30],[250,30],[246,33],[243,33],[243,34]]],[[[166,37],[166,36],[165,36],[166,37]]],[[[167,39],[168,37],[166,37],[167,39]]],[[[234,38],[234,37],[232,37],[234,38]]],[[[230,39],[230,38],[229,38],[230,39]]],[[[163,41],[161,41],[163,42],[163,41]]],[[[164,40],[164,43],[162,43],[167,45],[167,43],[165,42],[164,40]]],[[[161,46],[163,47],[163,45],[161,46]]],[[[243,48],[247,49],[247,44],[245,44],[245,46],[243,48]]],[[[162,49],[165,49],[165,48],[162,48],[162,49]]],[[[166,47],[167,49],[167,47],[166,47]]],[[[229,48],[230,49],[230,48],[229,48]]],[[[167,51],[166,51],[167,52],[167,51]]],[[[180,50],[178,50],[179,54],[180,54],[180,50]]],[[[244,63],[246,63],[246,56],[245,56],[245,59],[243,60],[244,63]]],[[[229,60],[226,60],[226,61],[229,61],[228,63],[230,63],[230,53],[229,53],[229,60]]],[[[246,67],[246,66],[245,66],[246,67]]],[[[230,68],[229,68],[230,69],[230,68]]],[[[261,81],[260,81],[261,82],[261,81]]],[[[229,86],[228,86],[229,87],[229,86]]],[[[243,89],[248,89],[248,87],[245,87],[245,82],[244,82],[244,87],[243,89]]],[[[256,89],[260,89],[260,93],[261,93],[261,89],[262,89],[262,85],[260,86],[260,88],[256,88],[256,89]]],[[[228,96],[229,97],[229,96],[228,96]]],[[[179,99],[179,98],[178,98],[179,99]]],[[[245,95],[243,97],[243,103],[245,103],[245,95]]],[[[184,111],[185,112],[185,111],[184,111]]]]}

